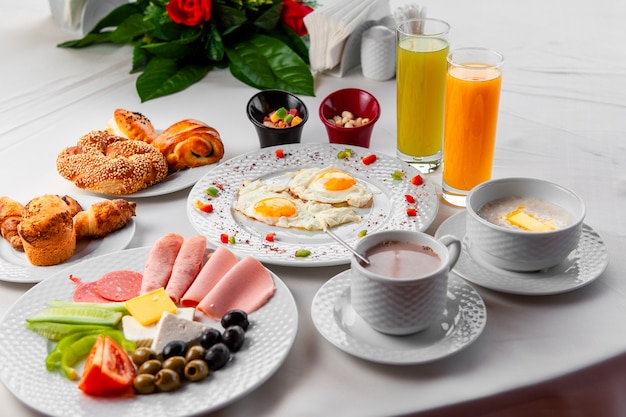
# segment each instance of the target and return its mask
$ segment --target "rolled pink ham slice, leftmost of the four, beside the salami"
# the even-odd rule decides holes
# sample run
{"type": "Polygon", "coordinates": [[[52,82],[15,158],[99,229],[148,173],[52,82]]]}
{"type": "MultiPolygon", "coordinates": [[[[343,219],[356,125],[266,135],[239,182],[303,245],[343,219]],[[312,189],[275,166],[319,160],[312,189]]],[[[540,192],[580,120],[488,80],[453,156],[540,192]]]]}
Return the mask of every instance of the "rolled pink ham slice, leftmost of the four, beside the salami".
{"type": "Polygon", "coordinates": [[[185,238],[181,235],[170,233],[154,243],[144,265],[141,294],[161,287],[165,288],[172,274],[176,256],[184,241],[185,238]]]}

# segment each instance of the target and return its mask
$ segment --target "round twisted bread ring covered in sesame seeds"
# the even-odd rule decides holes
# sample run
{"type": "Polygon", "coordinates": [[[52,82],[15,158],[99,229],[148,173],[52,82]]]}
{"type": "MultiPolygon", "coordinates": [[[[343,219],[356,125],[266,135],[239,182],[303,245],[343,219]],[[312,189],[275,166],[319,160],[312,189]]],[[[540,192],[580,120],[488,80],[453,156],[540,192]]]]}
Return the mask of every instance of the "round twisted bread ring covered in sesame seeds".
{"type": "Polygon", "coordinates": [[[57,156],[57,171],[78,188],[123,195],[163,180],[167,161],[154,146],[93,130],[57,156]]]}

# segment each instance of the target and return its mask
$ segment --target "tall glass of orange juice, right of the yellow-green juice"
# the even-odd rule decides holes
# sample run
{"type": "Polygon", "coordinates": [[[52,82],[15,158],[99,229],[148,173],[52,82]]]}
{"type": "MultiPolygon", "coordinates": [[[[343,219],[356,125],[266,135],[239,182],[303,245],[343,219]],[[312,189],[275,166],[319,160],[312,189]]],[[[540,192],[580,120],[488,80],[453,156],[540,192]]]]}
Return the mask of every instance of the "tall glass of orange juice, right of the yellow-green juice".
{"type": "Polygon", "coordinates": [[[450,204],[465,207],[469,191],[491,179],[503,63],[485,48],[448,55],[442,191],[450,204]]]}

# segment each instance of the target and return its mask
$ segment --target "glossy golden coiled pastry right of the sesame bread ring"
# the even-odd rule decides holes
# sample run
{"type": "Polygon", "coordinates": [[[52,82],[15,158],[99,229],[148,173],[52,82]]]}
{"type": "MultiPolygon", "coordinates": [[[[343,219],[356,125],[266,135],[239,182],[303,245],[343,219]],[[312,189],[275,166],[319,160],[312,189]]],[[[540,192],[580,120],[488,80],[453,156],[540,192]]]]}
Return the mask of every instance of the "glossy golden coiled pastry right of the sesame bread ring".
{"type": "Polygon", "coordinates": [[[174,123],[152,145],[165,156],[170,172],[212,164],[224,156],[218,131],[193,119],[174,123]]]}

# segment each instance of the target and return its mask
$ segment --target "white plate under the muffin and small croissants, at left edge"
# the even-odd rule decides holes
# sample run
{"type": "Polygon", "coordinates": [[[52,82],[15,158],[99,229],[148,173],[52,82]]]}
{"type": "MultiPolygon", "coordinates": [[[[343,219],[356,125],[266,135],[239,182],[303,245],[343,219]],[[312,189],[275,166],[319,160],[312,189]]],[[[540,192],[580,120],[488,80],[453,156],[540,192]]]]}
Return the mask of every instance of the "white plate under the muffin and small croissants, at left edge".
{"type": "MultiPolygon", "coordinates": [[[[83,209],[87,209],[91,204],[101,200],[85,196],[77,196],[76,199],[83,209]]],[[[135,221],[131,219],[125,227],[110,233],[102,239],[76,242],[74,255],[67,261],[52,266],[35,266],[31,264],[24,252],[16,251],[5,239],[0,238],[0,281],[18,283],[42,281],[77,262],[122,250],[128,246],[134,235],[135,221]]]]}

